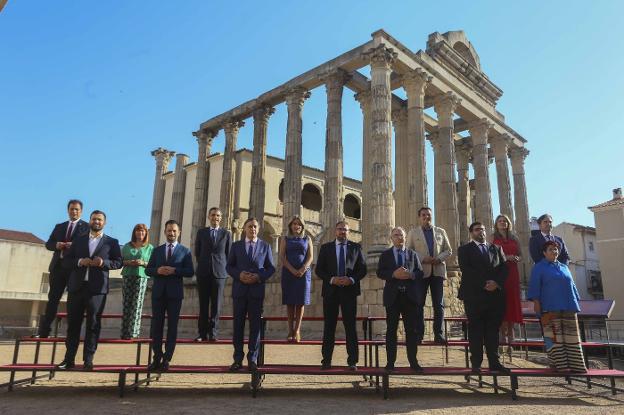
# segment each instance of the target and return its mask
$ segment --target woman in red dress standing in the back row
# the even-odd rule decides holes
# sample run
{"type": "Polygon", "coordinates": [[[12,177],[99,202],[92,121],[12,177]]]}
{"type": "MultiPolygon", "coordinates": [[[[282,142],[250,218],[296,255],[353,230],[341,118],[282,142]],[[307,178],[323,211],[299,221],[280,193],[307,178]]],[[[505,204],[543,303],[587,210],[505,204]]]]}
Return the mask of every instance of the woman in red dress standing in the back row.
{"type": "Polygon", "coordinates": [[[514,324],[522,323],[522,304],[520,303],[520,244],[512,233],[511,220],[506,215],[498,215],[494,222],[492,243],[500,246],[507,258],[509,275],[505,280],[505,315],[501,324],[503,342],[511,342],[514,338],[514,324]]]}

